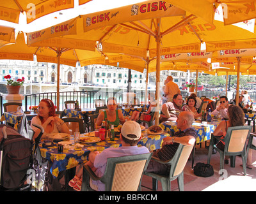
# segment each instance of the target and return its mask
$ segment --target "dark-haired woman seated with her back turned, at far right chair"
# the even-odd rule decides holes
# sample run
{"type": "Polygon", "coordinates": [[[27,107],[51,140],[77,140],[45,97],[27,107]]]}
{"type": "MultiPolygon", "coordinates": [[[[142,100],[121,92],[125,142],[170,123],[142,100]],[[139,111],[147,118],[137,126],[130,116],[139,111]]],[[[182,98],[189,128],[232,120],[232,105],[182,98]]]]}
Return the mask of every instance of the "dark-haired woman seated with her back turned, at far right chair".
{"type": "MultiPolygon", "coordinates": [[[[244,126],[244,112],[242,108],[235,105],[228,106],[228,119],[229,120],[222,120],[220,122],[213,132],[214,136],[221,136],[221,138],[224,138],[229,127],[244,126]]],[[[216,147],[224,150],[225,143],[219,141],[216,144],[216,147]]],[[[228,157],[225,157],[225,164],[228,164],[228,157]]]]}

